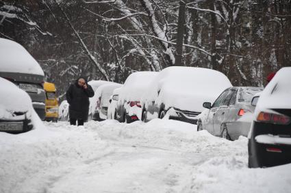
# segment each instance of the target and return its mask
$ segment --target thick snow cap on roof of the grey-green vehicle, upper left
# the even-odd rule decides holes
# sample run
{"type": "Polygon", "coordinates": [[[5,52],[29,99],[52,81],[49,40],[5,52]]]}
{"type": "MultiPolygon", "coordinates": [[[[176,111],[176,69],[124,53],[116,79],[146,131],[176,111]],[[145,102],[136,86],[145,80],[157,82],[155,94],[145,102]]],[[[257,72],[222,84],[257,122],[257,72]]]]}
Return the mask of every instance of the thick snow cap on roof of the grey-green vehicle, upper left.
{"type": "Polygon", "coordinates": [[[21,44],[4,38],[0,38],[0,72],[45,75],[38,62],[21,44]]]}

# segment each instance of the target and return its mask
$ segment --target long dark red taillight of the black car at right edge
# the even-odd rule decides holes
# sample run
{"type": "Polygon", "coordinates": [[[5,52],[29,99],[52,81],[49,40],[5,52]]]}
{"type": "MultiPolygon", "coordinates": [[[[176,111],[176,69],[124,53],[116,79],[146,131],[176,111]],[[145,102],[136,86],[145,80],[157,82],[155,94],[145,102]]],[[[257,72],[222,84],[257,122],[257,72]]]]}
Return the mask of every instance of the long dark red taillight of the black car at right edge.
{"type": "Polygon", "coordinates": [[[287,117],[286,115],[261,112],[257,115],[257,121],[288,125],[290,123],[290,117],[287,117]]]}

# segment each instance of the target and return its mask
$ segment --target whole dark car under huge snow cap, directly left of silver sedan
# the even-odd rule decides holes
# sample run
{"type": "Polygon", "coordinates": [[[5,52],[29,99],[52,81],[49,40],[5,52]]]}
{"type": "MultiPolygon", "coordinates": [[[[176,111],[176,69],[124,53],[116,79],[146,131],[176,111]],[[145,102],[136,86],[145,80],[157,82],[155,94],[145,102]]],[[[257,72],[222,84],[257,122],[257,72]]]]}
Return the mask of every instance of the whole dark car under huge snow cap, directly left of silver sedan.
{"type": "Polygon", "coordinates": [[[225,74],[206,68],[173,66],[162,70],[142,97],[142,120],[169,119],[197,123],[203,102],[231,87],[225,74]]]}

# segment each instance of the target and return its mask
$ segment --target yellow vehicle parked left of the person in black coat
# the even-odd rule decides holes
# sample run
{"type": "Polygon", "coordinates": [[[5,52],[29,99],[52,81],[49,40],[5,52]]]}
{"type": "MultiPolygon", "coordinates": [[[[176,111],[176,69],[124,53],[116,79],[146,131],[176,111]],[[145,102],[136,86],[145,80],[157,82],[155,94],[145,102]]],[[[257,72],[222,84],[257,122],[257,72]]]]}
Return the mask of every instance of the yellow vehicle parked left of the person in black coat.
{"type": "Polygon", "coordinates": [[[45,121],[58,121],[59,117],[59,105],[57,95],[55,93],[55,84],[45,83],[45,121]]]}

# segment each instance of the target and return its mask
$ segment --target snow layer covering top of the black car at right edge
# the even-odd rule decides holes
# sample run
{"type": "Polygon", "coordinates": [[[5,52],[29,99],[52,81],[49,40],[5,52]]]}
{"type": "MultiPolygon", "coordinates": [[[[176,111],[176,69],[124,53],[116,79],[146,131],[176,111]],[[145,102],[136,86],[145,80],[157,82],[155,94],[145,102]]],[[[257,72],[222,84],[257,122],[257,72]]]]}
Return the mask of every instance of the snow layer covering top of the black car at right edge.
{"type": "Polygon", "coordinates": [[[275,108],[291,108],[291,67],[281,68],[260,94],[255,116],[261,111],[275,108]]]}

